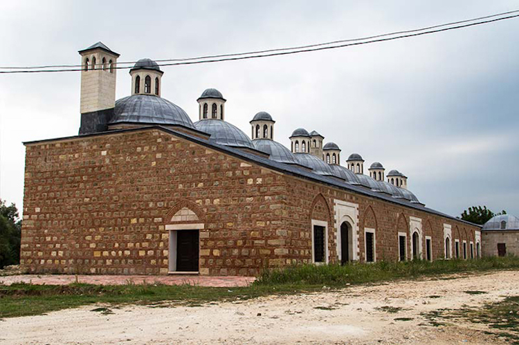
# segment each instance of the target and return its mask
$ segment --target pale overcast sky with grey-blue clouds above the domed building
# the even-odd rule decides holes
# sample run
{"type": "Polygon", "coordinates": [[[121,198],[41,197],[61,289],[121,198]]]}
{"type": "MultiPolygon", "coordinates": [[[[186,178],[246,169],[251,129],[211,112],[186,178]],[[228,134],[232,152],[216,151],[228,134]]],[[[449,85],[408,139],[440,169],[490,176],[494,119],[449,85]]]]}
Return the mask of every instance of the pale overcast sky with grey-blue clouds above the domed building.
{"type": "MultiPolygon", "coordinates": [[[[519,9],[519,1],[3,1],[0,66],[79,64],[97,41],[120,61],[282,48],[519,9]]],[[[271,113],[289,147],[304,127],[406,174],[422,203],[519,215],[519,19],[284,57],[163,67],[162,96],[198,120],[217,88],[226,120],[250,135],[271,113]]],[[[118,71],[117,98],[130,94],[118,71]]],[[[0,75],[0,198],[21,208],[24,145],[72,136],[80,73],[0,75]]]]}

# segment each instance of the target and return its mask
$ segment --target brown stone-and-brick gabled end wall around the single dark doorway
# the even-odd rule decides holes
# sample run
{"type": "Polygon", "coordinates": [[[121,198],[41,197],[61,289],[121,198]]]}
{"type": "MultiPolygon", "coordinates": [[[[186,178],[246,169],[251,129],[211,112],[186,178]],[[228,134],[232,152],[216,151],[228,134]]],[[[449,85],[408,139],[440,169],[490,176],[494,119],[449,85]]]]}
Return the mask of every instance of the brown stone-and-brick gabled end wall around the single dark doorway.
{"type": "Polygon", "coordinates": [[[281,263],[284,194],[280,174],[158,130],[29,145],[21,265],[165,274],[165,225],[190,205],[200,273],[257,274],[281,263]]]}

